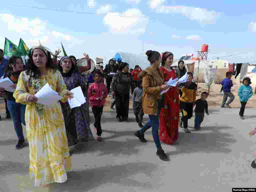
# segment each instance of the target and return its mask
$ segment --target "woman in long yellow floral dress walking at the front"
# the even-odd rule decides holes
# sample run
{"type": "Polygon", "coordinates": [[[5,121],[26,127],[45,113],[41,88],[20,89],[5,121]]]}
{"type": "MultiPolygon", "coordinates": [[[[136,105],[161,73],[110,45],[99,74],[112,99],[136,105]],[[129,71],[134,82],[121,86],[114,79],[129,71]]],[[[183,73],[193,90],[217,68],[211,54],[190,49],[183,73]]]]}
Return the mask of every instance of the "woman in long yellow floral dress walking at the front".
{"type": "Polygon", "coordinates": [[[48,83],[66,102],[73,97],[67,90],[61,73],[52,65],[50,52],[42,46],[29,52],[28,69],[23,71],[13,96],[17,103],[27,105],[26,132],[29,143],[30,179],[35,187],[63,183],[71,170],[68,141],[59,102],[51,106],[36,103],[35,94],[48,83]]]}

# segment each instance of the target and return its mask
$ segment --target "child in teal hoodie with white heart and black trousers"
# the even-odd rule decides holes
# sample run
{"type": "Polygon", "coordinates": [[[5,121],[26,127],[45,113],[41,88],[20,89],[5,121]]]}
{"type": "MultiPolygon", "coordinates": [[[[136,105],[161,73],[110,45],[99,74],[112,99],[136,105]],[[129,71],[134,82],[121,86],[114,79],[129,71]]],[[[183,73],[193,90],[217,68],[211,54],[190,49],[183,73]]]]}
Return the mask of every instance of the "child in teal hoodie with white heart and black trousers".
{"type": "Polygon", "coordinates": [[[238,96],[241,102],[241,108],[239,112],[241,119],[244,119],[243,113],[244,113],[245,105],[249,100],[249,98],[252,96],[252,87],[250,86],[250,84],[251,84],[251,79],[249,77],[245,77],[243,79],[243,84],[238,89],[238,96]]]}

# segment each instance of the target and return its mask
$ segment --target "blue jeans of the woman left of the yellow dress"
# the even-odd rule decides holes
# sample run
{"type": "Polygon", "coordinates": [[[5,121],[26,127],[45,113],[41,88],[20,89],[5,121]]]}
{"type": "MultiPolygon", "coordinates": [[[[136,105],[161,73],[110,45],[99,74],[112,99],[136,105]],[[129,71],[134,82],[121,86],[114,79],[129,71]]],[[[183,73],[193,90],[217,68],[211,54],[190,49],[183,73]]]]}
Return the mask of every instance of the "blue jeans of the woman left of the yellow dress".
{"type": "Polygon", "coordinates": [[[7,100],[7,107],[13,119],[14,129],[19,140],[24,141],[22,124],[25,124],[26,105],[7,100]]]}

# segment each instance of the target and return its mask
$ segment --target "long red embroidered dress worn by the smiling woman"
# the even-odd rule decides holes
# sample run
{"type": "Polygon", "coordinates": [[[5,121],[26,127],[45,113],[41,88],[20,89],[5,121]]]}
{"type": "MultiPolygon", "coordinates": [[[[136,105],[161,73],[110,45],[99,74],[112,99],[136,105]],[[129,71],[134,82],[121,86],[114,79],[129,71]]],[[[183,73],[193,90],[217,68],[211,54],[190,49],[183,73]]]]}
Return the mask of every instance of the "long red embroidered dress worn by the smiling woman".
{"type": "MultiPolygon", "coordinates": [[[[165,68],[160,67],[164,72],[164,81],[169,81],[172,77],[176,79],[175,70],[167,71],[165,68]]],[[[178,139],[179,129],[179,89],[171,87],[164,93],[164,108],[161,108],[160,113],[160,127],[159,139],[160,141],[172,145],[178,139]]]]}

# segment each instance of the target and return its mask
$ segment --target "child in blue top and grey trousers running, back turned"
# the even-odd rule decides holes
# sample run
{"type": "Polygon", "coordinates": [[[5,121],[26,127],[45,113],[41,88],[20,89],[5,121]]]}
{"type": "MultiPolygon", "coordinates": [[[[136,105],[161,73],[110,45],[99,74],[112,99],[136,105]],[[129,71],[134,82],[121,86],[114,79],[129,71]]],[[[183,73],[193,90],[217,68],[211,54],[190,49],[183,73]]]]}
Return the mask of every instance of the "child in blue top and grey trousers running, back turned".
{"type": "Polygon", "coordinates": [[[226,108],[231,108],[231,106],[229,106],[230,103],[232,103],[232,101],[234,100],[234,95],[231,92],[231,87],[233,87],[233,82],[231,80],[232,77],[232,72],[228,71],[226,73],[226,79],[223,79],[223,81],[221,81],[221,85],[223,86],[223,101],[221,104],[221,107],[226,107],[226,108]],[[227,101],[229,97],[229,100],[227,101]],[[227,103],[226,103],[227,101],[227,103]]]}

